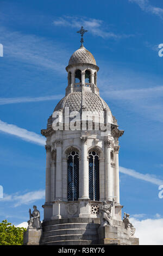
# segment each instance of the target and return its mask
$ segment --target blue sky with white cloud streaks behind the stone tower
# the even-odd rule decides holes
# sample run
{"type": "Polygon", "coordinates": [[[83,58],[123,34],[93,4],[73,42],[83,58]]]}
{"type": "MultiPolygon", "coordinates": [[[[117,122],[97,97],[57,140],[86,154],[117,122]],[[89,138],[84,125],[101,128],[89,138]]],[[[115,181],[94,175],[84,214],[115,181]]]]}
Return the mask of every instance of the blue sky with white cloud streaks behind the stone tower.
{"type": "Polygon", "coordinates": [[[163,3],[14,0],[0,6],[0,220],[27,221],[33,203],[43,218],[46,152],[40,130],[65,95],[65,66],[80,46],[76,31],[82,25],[89,31],[84,46],[100,68],[100,95],[125,130],[121,204],[139,221],[162,220],[163,3]]]}

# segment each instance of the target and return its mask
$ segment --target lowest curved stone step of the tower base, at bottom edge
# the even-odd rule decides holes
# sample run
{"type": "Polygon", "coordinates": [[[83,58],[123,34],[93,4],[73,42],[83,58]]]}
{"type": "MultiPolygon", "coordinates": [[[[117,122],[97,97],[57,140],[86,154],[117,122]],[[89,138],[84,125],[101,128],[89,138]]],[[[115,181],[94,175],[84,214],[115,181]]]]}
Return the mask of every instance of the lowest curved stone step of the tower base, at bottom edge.
{"type": "Polygon", "coordinates": [[[98,240],[59,240],[52,242],[41,242],[40,245],[98,245],[98,240]]]}

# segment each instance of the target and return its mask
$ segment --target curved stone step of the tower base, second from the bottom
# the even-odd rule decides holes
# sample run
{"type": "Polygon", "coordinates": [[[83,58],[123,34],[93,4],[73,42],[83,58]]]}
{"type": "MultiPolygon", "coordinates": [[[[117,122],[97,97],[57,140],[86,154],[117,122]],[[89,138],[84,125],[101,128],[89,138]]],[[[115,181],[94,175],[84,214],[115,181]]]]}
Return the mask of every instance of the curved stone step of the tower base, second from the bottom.
{"type": "Polygon", "coordinates": [[[67,235],[53,235],[42,237],[41,243],[54,242],[61,240],[98,240],[98,235],[81,235],[81,234],[67,234],[67,235]]]}

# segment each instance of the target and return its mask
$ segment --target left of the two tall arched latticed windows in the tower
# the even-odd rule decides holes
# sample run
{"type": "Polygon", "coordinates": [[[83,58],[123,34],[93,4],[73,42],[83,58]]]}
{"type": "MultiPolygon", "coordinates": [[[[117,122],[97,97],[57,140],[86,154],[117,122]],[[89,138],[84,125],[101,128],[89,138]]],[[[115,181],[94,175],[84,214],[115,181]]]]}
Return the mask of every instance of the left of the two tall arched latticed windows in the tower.
{"type": "Polygon", "coordinates": [[[79,198],[79,154],[71,151],[67,157],[67,199],[76,201],[79,198]]]}

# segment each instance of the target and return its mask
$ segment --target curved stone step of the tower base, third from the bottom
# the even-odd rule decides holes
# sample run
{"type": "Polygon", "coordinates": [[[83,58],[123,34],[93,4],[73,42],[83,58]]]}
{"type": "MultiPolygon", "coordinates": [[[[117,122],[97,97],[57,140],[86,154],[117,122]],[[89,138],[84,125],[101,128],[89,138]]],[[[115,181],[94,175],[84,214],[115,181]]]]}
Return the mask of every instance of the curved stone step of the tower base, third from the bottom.
{"type": "Polygon", "coordinates": [[[43,231],[43,237],[45,236],[53,236],[53,235],[66,235],[66,234],[89,234],[95,235],[97,234],[97,230],[95,228],[68,228],[68,229],[55,229],[50,231],[43,231]]]}

